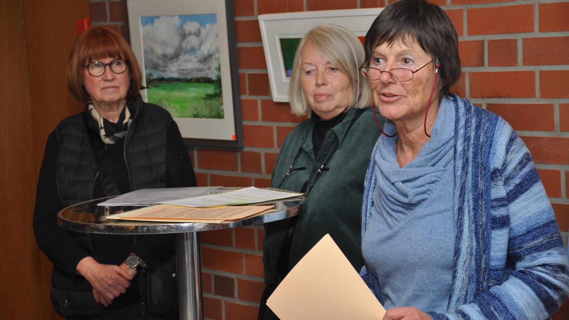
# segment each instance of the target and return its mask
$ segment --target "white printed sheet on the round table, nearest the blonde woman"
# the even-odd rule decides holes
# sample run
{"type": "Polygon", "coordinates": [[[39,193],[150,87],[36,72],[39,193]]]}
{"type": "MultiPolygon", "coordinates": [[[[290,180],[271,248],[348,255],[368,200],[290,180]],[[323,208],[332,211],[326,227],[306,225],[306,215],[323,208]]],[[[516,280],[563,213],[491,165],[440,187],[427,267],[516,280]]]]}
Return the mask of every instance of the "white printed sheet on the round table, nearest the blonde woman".
{"type": "Polygon", "coordinates": [[[175,206],[184,207],[208,208],[217,206],[232,206],[236,204],[261,203],[272,200],[294,198],[300,195],[303,194],[298,192],[277,191],[249,187],[223,192],[220,194],[202,195],[193,198],[172,201],[160,201],[159,203],[174,204],[175,206]]]}

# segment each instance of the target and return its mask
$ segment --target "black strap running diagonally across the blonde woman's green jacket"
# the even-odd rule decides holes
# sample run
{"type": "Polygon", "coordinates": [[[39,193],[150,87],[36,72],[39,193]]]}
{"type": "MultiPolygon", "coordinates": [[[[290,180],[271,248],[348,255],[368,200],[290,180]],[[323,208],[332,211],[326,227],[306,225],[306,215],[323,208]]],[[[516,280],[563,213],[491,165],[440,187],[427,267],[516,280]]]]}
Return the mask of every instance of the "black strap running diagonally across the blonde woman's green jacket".
{"type": "MultiPolygon", "coordinates": [[[[354,117],[352,118],[352,122],[350,122],[350,125],[348,126],[348,130],[346,130],[346,134],[348,134],[349,130],[356,123],[358,118],[360,118],[360,116],[364,113],[364,111],[365,111],[365,109],[357,109],[356,110],[356,114],[354,114],[354,117]]],[[[320,166],[320,169],[318,169],[318,174],[316,174],[314,181],[312,181],[312,183],[308,186],[308,188],[306,190],[306,197],[307,198],[308,198],[308,195],[310,194],[310,191],[312,191],[312,188],[314,187],[314,185],[316,184],[316,182],[320,178],[320,175],[322,175],[322,173],[324,171],[329,170],[329,168],[327,167],[328,163],[332,159],[333,155],[336,153],[336,150],[338,150],[338,147],[339,147],[339,142],[336,141],[336,145],[332,149],[332,152],[328,155],[328,158],[326,158],[324,163],[320,166]]],[[[305,204],[306,204],[306,202],[305,202],[305,204]]],[[[304,206],[301,208],[299,215],[302,214],[302,212],[304,212],[304,206]]],[[[292,244],[291,243],[292,235],[294,234],[294,230],[296,228],[297,221],[298,221],[298,215],[296,215],[290,219],[290,224],[288,225],[288,231],[286,233],[286,236],[284,237],[284,243],[283,243],[283,246],[281,247],[281,252],[279,253],[279,257],[277,259],[277,281],[279,283],[284,279],[284,277],[286,276],[286,273],[288,273],[288,265],[286,265],[286,266],[282,265],[282,261],[283,261],[284,254],[288,251],[288,248],[292,244]]]]}

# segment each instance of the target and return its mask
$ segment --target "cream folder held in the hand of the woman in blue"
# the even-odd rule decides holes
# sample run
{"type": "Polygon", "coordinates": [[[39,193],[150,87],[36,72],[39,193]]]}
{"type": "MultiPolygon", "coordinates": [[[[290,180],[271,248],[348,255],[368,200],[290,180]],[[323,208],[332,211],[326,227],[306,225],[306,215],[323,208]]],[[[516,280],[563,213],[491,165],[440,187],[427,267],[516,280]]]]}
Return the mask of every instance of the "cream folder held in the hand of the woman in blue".
{"type": "Polygon", "coordinates": [[[330,235],[288,273],[267,300],[281,320],[375,319],[385,309],[330,235]]]}

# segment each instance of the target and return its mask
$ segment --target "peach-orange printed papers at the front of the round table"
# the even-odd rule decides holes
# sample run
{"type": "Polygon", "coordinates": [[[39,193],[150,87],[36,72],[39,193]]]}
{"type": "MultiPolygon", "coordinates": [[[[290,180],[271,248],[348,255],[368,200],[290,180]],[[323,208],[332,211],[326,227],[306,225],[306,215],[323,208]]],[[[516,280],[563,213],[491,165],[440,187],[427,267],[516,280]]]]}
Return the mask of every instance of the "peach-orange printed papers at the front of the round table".
{"type": "Polygon", "coordinates": [[[273,212],[274,206],[225,206],[215,208],[191,208],[158,204],[106,216],[106,219],[125,219],[161,222],[207,222],[223,223],[250,218],[256,215],[273,212]]]}

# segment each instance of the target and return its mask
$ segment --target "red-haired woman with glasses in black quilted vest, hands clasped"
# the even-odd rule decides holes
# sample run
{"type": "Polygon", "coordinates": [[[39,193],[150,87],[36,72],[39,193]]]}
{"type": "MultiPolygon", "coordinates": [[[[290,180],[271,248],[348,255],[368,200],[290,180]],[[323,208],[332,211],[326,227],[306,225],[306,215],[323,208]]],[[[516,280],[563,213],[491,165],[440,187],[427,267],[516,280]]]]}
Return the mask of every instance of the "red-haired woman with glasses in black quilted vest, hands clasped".
{"type": "Polygon", "coordinates": [[[56,215],[141,188],[195,186],[188,151],[170,114],[142,101],[140,67],[117,32],[94,27],[79,35],[67,80],[85,111],[48,137],[34,211],[36,240],[54,266],[53,307],[64,318],[156,319],[144,309],[137,274],[171,258],[172,235],[68,231],[56,215]]]}

